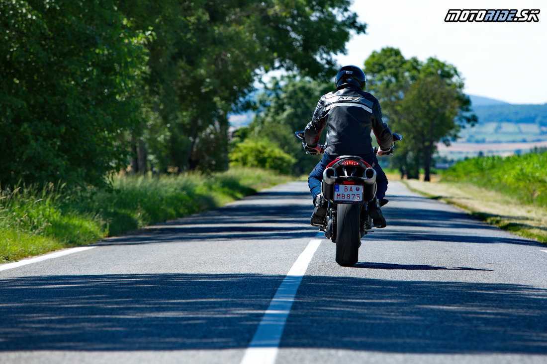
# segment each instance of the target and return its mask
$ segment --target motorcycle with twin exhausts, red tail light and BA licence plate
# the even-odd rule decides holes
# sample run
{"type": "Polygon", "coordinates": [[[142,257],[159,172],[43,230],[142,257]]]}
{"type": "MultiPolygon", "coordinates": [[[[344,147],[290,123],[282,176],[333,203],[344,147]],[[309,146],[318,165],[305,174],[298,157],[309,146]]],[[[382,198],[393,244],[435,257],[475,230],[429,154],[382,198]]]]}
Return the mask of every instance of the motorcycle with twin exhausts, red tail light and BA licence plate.
{"type": "MultiPolygon", "coordinates": [[[[294,136],[302,140],[306,149],[304,132],[294,136]]],[[[403,136],[392,133],[393,145],[387,153],[393,156],[395,143],[403,136]]],[[[321,145],[321,154],[327,148],[321,145]]],[[[378,148],[374,148],[375,154],[378,148]]],[[[310,154],[306,151],[306,154],[310,154]]],[[[313,226],[325,233],[325,237],[336,244],[336,262],[351,267],[358,261],[361,238],[372,232],[373,219],[369,214],[369,202],[376,196],[376,171],[358,156],[344,155],[330,162],[323,171],[321,193],[327,199],[327,214],[323,224],[313,226]]]]}

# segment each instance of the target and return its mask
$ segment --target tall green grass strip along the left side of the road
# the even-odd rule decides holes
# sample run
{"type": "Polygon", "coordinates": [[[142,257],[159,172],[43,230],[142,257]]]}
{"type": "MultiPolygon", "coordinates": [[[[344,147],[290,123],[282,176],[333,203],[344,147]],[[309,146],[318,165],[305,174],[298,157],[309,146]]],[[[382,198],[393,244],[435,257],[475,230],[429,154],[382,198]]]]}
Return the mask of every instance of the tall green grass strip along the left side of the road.
{"type": "Polygon", "coordinates": [[[69,191],[62,185],[4,190],[0,263],[203,212],[291,179],[261,169],[232,168],[211,175],[119,176],[110,191],[69,191]]]}

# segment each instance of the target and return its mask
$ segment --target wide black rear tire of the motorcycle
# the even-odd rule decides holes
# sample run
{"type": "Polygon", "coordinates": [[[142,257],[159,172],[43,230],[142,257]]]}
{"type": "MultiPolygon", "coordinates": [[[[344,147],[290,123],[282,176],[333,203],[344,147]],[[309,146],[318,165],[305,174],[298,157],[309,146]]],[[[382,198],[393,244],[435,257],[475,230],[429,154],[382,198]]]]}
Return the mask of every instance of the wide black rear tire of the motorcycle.
{"type": "Polygon", "coordinates": [[[336,263],[351,267],[359,260],[360,205],[339,204],[336,213],[336,263]]]}

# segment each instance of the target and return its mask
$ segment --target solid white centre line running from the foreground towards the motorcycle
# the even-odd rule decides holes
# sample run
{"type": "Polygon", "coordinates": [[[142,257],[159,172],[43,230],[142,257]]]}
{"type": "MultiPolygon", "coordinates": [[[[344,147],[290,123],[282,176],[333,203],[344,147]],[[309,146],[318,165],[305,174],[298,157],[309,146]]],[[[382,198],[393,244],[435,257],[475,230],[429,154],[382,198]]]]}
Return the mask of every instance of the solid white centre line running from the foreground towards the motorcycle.
{"type": "MultiPolygon", "coordinates": [[[[317,238],[321,235],[319,233],[317,238]]],[[[311,240],[290,268],[264,313],[249,347],[245,350],[241,364],[274,364],[296,291],[319,244],[321,239],[311,240]]]]}

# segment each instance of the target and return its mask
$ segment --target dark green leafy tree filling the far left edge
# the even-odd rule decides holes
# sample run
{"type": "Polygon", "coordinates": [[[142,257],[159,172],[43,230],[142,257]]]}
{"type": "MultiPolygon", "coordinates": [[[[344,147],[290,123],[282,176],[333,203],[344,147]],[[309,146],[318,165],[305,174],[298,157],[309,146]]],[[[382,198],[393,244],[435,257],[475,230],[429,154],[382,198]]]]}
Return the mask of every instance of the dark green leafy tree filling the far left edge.
{"type": "Polygon", "coordinates": [[[113,0],[0,2],[0,183],[101,184],[141,122],[147,36],[113,0]]]}

